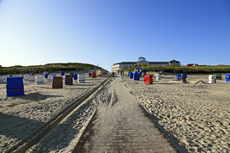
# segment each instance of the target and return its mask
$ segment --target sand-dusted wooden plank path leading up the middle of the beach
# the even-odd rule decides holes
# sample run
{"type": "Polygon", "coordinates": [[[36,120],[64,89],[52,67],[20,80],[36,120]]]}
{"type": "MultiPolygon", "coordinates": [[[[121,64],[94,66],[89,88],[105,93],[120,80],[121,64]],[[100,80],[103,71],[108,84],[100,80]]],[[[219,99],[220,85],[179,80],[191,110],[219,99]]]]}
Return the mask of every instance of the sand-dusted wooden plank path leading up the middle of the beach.
{"type": "Polygon", "coordinates": [[[73,153],[178,152],[140,107],[121,80],[108,89],[107,105],[99,106],[73,153]]]}

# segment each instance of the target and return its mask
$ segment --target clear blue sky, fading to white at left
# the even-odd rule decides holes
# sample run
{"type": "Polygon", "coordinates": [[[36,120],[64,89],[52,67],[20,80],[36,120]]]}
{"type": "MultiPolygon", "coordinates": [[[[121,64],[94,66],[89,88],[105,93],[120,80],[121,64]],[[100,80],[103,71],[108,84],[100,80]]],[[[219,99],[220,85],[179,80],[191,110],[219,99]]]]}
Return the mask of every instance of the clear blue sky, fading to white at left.
{"type": "Polygon", "coordinates": [[[0,65],[230,65],[230,0],[0,0],[0,65]]]}

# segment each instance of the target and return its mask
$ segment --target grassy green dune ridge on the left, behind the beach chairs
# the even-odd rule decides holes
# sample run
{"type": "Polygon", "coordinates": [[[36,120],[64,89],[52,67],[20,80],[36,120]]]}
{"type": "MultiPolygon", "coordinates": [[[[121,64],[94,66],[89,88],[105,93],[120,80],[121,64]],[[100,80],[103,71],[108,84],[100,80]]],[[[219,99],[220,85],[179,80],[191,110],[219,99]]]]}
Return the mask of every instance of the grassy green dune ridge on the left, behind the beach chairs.
{"type": "Polygon", "coordinates": [[[49,63],[46,65],[33,65],[33,66],[21,66],[15,65],[11,67],[0,67],[0,75],[5,74],[26,74],[26,73],[43,73],[47,72],[57,72],[57,71],[88,71],[89,68],[95,68],[104,70],[101,67],[85,64],[85,63],[49,63]]]}

